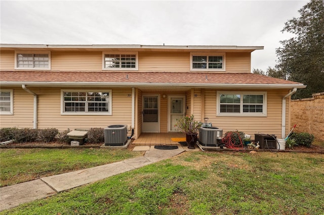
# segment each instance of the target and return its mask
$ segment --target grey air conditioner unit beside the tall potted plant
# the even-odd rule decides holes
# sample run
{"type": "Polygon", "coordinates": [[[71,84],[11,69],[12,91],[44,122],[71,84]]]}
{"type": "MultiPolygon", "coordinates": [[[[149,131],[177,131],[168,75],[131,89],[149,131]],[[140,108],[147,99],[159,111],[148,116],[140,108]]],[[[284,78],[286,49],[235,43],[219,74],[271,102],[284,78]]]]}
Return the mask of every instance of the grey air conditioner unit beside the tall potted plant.
{"type": "Polygon", "coordinates": [[[217,127],[200,127],[199,143],[204,146],[218,146],[218,142],[222,139],[223,129],[217,127]]]}

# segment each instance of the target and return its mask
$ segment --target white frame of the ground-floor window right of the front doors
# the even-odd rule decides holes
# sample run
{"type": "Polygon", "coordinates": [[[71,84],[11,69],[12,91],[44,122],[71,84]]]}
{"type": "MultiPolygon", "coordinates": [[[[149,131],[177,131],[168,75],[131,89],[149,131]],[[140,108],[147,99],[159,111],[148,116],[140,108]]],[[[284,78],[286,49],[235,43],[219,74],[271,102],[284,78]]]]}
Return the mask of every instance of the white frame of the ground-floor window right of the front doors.
{"type": "MultiPolygon", "coordinates": [[[[237,103],[238,104],[238,103],[237,103]]],[[[217,116],[218,117],[266,117],[267,116],[267,92],[260,91],[217,91],[217,116]],[[220,95],[234,94],[240,96],[240,113],[220,113],[220,95]],[[244,113],[243,112],[243,95],[263,95],[262,113],[244,113]]]]}

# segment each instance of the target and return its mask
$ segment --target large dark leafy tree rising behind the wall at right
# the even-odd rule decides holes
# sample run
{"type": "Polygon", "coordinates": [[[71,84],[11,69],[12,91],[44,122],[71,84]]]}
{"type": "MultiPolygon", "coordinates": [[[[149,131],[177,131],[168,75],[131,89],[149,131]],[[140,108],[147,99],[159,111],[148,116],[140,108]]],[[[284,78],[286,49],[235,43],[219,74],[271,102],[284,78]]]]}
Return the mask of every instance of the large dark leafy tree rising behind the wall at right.
{"type": "Polygon", "coordinates": [[[298,12],[300,17],[288,20],[282,29],[296,36],[280,41],[276,69],[288,80],[307,85],[293,95],[305,98],[324,92],[324,1],[311,0],[298,12]]]}

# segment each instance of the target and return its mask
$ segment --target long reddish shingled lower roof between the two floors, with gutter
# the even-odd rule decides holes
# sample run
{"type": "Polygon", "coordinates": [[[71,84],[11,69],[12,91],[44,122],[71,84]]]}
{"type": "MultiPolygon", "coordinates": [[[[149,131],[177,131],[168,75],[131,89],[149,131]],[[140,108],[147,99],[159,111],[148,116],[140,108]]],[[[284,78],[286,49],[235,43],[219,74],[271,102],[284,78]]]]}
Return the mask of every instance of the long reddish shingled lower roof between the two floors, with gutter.
{"type": "Polygon", "coordinates": [[[179,87],[272,87],[304,88],[302,83],[253,73],[198,72],[55,72],[1,71],[1,85],[113,85],[113,86],[179,86],[179,87]]]}

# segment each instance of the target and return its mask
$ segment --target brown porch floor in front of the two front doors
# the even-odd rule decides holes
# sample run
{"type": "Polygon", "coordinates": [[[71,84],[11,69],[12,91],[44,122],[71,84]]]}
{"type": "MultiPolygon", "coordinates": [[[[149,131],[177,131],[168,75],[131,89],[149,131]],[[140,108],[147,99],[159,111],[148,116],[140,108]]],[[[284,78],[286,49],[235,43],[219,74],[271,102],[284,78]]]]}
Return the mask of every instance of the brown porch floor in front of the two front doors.
{"type": "MultiPolygon", "coordinates": [[[[178,145],[178,141],[172,141],[171,138],[186,138],[183,133],[142,133],[133,141],[133,145],[178,145]]],[[[181,141],[185,141],[181,140],[181,141]]],[[[179,141],[180,142],[180,141],[179,141]]]]}

